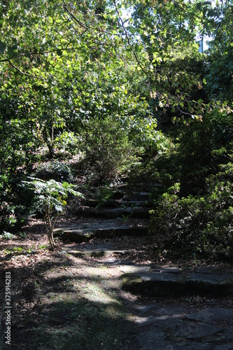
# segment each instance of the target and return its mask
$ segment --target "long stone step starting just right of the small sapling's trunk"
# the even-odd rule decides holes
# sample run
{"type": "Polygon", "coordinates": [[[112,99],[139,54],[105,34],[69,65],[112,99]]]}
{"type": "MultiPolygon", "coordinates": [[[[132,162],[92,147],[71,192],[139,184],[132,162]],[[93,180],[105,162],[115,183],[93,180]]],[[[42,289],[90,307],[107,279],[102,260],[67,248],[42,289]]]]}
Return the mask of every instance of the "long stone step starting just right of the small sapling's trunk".
{"type": "Polygon", "coordinates": [[[111,221],[103,221],[94,224],[55,229],[55,237],[61,234],[66,237],[66,239],[81,243],[83,241],[89,241],[94,237],[100,239],[122,236],[143,237],[148,234],[148,228],[146,226],[131,227],[127,225],[117,225],[111,221]]]}

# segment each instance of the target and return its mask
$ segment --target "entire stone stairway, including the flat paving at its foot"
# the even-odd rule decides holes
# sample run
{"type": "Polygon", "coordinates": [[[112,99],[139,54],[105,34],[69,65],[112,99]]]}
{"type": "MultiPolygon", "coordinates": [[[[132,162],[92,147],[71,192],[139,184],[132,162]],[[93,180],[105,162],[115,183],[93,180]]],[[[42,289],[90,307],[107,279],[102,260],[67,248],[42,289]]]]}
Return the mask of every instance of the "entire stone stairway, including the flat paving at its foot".
{"type": "Polygon", "coordinates": [[[233,349],[232,273],[224,267],[181,269],[136,264],[125,258],[125,236],[148,235],[147,225],[136,221],[148,223],[150,209],[148,192],[115,191],[101,206],[93,198],[82,202],[75,214],[85,218],[85,224],[59,228],[55,234],[73,242],[65,246],[66,253],[118,267],[141,350],[233,349]],[[112,244],[115,237],[120,238],[117,248],[112,244]],[[136,295],[136,302],[129,294],[136,295]]]}

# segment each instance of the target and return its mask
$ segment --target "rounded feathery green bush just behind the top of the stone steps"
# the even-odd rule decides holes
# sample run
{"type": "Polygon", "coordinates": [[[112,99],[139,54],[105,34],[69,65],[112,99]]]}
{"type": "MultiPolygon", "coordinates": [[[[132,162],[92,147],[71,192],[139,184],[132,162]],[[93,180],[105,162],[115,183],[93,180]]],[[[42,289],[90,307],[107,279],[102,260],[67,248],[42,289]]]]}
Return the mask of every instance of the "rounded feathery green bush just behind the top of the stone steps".
{"type": "Polygon", "coordinates": [[[136,160],[127,132],[111,118],[87,122],[82,139],[87,168],[99,182],[117,178],[136,160]]]}

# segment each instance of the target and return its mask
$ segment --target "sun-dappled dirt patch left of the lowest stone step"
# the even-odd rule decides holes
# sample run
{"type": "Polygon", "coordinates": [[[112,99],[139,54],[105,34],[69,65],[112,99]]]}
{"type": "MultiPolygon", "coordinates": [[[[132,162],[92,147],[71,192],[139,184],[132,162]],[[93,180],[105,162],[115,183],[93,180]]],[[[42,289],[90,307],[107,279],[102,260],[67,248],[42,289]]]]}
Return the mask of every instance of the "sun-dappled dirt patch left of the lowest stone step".
{"type": "Polygon", "coordinates": [[[1,290],[4,271],[11,273],[10,348],[140,349],[118,267],[76,258],[62,245],[51,253],[46,237],[37,239],[1,242],[1,290]]]}

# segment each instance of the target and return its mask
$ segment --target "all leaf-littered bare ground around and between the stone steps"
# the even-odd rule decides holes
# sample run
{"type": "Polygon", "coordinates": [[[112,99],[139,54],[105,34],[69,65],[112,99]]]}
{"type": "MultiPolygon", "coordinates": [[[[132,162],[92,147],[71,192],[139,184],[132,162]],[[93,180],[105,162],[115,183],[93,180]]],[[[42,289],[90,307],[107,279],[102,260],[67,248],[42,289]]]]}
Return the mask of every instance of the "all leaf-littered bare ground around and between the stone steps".
{"type": "MultiPolygon", "coordinates": [[[[70,217],[69,225],[85,220],[93,219],[78,220],[70,217]]],[[[62,226],[66,223],[67,217],[64,216],[57,225],[62,226]]],[[[55,251],[50,251],[47,248],[48,241],[43,222],[36,219],[31,219],[22,232],[27,235],[26,238],[0,241],[3,292],[1,335],[6,324],[5,272],[11,274],[10,349],[176,349],[169,343],[164,343],[164,339],[160,341],[162,347],[156,344],[150,346],[149,340],[146,339],[148,335],[151,336],[150,321],[144,324],[146,318],[141,317],[136,310],[148,310],[150,307],[160,307],[161,310],[165,307],[180,306],[182,310],[191,307],[192,311],[198,311],[203,309],[204,304],[227,309],[233,307],[230,297],[215,300],[199,296],[153,298],[126,292],[121,288],[120,276],[123,272],[121,257],[118,254],[102,258],[75,257],[69,254],[69,248],[74,246],[69,241],[57,241],[55,251]],[[140,333],[143,340],[139,342],[140,323],[143,327],[140,333]]],[[[100,242],[108,244],[108,239],[98,239],[98,244],[100,242]]],[[[92,239],[88,244],[94,248],[97,239],[92,239]]],[[[115,248],[127,250],[124,261],[130,260],[139,265],[155,262],[155,242],[152,238],[117,237],[111,239],[111,244],[115,248]]],[[[83,245],[85,243],[76,244],[79,248],[83,245]]],[[[162,260],[157,263],[161,267],[191,269],[197,265],[197,262],[183,260],[162,260]]],[[[220,264],[219,267],[232,272],[231,265],[220,264]]],[[[3,335],[1,344],[3,349],[8,349],[4,337],[3,335]]]]}

